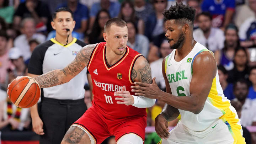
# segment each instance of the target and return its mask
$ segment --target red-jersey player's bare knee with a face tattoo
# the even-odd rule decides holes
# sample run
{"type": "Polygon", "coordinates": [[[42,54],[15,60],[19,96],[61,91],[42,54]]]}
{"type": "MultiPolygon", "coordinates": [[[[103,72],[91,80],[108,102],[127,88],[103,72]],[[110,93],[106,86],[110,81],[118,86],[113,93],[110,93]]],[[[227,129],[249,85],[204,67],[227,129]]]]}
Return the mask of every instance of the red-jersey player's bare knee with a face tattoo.
{"type": "Polygon", "coordinates": [[[71,126],[66,132],[61,144],[95,144],[91,135],[77,126],[71,126]]]}

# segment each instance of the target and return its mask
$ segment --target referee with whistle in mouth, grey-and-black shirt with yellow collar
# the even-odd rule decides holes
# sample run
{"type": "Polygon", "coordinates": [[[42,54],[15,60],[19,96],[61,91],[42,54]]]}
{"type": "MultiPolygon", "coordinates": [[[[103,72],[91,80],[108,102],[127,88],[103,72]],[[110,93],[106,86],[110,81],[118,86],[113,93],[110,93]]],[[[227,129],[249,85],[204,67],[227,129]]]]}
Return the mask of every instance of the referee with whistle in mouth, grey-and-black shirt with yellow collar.
{"type": "MultiPolygon", "coordinates": [[[[34,49],[28,76],[36,77],[54,69],[63,69],[86,45],[72,37],[75,21],[70,9],[59,8],[52,18],[56,37],[34,49]]],[[[86,69],[68,83],[43,88],[41,103],[31,107],[33,130],[40,135],[40,144],[59,144],[71,124],[87,110],[84,103],[85,82],[86,69]]]]}

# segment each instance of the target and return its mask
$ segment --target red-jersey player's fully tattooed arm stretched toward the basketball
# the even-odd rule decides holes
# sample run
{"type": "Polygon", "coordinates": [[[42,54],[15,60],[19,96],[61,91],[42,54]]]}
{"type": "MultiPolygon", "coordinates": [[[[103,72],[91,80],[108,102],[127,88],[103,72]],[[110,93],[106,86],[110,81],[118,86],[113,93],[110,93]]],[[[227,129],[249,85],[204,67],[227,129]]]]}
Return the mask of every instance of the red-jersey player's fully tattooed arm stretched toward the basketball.
{"type": "Polygon", "coordinates": [[[38,82],[40,87],[52,87],[69,82],[88,65],[92,50],[95,46],[96,44],[89,44],[82,48],[75,59],[64,69],[52,70],[34,79],[38,82]]]}

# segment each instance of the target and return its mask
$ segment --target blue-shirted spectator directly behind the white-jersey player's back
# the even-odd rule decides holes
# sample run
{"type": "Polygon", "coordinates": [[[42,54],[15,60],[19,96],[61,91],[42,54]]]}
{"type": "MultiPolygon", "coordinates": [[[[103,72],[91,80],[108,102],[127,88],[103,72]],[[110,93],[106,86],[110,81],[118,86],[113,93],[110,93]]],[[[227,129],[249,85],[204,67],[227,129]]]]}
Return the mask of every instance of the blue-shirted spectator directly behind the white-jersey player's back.
{"type": "Polygon", "coordinates": [[[233,100],[235,98],[233,94],[233,84],[228,83],[226,80],[228,79],[228,71],[224,68],[223,65],[218,65],[218,74],[220,85],[222,86],[223,94],[229,100],[233,100]]]}

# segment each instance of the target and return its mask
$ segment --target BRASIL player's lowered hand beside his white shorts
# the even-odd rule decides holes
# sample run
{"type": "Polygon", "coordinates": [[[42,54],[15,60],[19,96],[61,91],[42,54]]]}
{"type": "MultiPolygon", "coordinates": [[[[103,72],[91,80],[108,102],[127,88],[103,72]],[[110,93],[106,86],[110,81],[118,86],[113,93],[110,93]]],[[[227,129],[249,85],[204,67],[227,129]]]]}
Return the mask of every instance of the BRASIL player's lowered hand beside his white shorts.
{"type": "Polygon", "coordinates": [[[170,135],[169,128],[168,128],[168,122],[162,116],[162,114],[158,114],[158,116],[155,118],[155,131],[158,134],[158,136],[161,139],[167,139],[170,135]]]}

